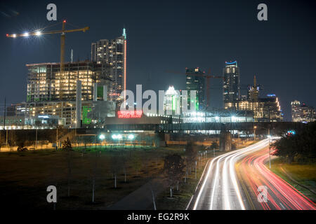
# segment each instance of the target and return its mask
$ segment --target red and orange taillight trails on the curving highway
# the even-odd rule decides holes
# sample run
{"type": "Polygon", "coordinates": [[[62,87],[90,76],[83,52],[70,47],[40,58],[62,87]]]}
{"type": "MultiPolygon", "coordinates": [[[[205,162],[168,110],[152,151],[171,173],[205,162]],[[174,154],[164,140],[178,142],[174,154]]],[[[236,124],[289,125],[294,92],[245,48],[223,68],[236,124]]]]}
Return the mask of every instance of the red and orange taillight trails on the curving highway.
{"type": "Polygon", "coordinates": [[[242,179],[251,192],[256,209],[315,210],[315,203],[265,166],[268,158],[269,150],[263,148],[242,158],[237,165],[238,172],[241,172],[242,179]],[[259,203],[256,200],[258,186],[268,187],[268,202],[259,203]]]}

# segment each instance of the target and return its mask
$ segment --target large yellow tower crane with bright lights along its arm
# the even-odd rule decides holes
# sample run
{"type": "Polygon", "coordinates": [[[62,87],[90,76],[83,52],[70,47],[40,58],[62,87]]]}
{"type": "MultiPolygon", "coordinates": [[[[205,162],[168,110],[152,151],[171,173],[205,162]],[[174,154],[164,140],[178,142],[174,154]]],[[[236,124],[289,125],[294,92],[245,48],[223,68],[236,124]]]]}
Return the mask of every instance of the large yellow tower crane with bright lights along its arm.
{"type": "Polygon", "coordinates": [[[60,35],[60,96],[59,98],[62,99],[62,80],[64,77],[64,67],[65,67],[65,34],[72,33],[77,31],[87,31],[90,27],[78,28],[78,29],[65,29],[66,20],[62,20],[62,29],[61,30],[53,30],[53,31],[41,31],[43,29],[38,29],[34,32],[25,32],[23,34],[6,34],[6,37],[16,38],[20,36],[41,36],[45,34],[61,34],[60,35]]]}

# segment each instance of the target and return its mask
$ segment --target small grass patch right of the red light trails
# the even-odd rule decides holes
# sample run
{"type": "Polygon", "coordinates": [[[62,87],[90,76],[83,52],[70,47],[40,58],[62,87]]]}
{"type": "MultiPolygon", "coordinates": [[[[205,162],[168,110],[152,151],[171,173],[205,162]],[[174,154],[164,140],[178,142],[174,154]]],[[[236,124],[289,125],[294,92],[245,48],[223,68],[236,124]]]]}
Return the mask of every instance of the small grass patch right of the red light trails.
{"type": "Polygon", "coordinates": [[[294,188],[296,188],[298,191],[303,193],[306,197],[310,198],[313,202],[316,202],[316,195],[310,190],[307,190],[306,188],[303,188],[302,186],[298,185],[301,184],[303,186],[306,186],[316,192],[316,165],[315,164],[309,164],[309,165],[303,165],[298,163],[285,163],[283,162],[282,158],[276,158],[275,160],[272,160],[271,162],[271,170],[278,176],[280,176],[284,181],[287,181],[287,183],[291,184],[294,188]],[[289,176],[285,173],[289,174],[292,179],[291,180],[289,176]]]}

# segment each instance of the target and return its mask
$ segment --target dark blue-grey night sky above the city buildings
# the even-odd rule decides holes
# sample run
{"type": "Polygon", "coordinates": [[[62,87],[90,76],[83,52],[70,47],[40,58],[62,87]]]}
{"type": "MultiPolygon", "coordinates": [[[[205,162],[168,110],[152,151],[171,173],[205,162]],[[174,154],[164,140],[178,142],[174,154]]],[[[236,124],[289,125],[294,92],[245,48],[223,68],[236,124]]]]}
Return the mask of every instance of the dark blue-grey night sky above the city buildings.
{"type": "MultiPolygon", "coordinates": [[[[86,33],[66,35],[65,57],[90,59],[91,43],[121,36],[126,27],[127,88],[185,88],[185,72],[197,67],[222,75],[225,61],[237,60],[242,88],[263,85],[261,97],[277,94],[286,120],[290,102],[316,106],[316,1],[1,1],[0,105],[26,100],[27,63],[59,62],[60,35],[6,38],[56,22],[46,20],[55,3],[58,22],[67,29],[89,26],[86,33]],[[268,6],[268,21],[258,21],[258,3],[268,6]]],[[[51,29],[61,29],[51,27],[51,29]]],[[[221,80],[211,80],[211,106],[222,106],[221,80]]],[[[242,90],[245,91],[246,90],[242,90]]]]}

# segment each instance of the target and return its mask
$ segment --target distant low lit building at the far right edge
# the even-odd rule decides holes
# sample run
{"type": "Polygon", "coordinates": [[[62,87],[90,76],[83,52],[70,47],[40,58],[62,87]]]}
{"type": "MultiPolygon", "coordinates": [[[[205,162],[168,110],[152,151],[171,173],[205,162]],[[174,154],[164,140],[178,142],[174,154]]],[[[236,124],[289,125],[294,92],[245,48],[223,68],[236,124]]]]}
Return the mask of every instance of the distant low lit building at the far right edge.
{"type": "Polygon", "coordinates": [[[293,122],[313,122],[316,120],[316,112],[314,107],[307,106],[306,104],[295,100],[291,102],[291,112],[293,122]]]}

